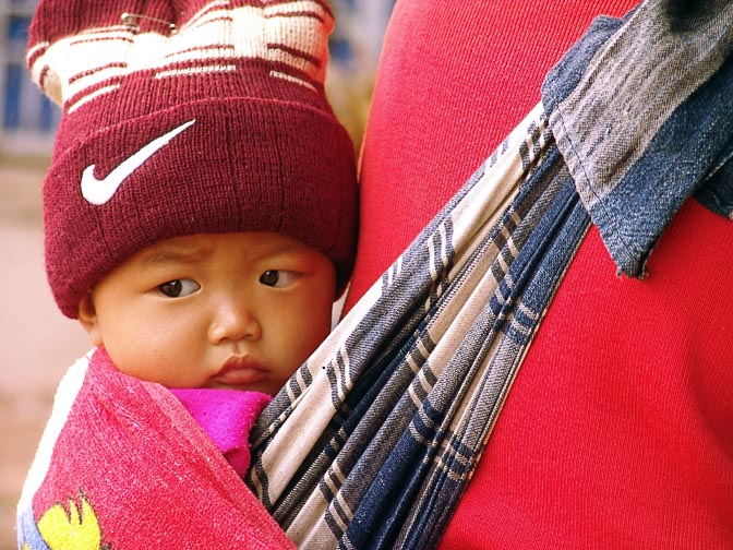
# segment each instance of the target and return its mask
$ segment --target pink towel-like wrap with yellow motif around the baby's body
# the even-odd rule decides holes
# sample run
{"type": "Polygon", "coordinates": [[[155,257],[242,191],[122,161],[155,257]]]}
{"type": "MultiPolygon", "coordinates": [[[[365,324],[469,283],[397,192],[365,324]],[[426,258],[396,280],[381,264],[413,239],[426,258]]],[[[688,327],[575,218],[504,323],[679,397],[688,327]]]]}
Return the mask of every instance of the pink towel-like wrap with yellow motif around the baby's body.
{"type": "Polygon", "coordinates": [[[295,548],[181,402],[101,349],[59,385],[17,537],[29,550],[295,548]]]}

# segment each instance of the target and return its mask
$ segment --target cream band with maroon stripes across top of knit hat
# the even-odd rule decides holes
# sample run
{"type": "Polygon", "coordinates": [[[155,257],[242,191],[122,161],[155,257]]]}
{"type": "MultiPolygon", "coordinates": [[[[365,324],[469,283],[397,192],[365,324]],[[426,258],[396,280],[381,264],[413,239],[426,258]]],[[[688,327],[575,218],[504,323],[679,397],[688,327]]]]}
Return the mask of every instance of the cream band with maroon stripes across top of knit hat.
{"type": "Polygon", "coordinates": [[[171,22],[173,33],[164,24],[139,32],[122,21],[121,10],[117,15],[113,24],[28,49],[34,82],[67,112],[118,89],[132,73],[168,79],[233,72],[241,60],[267,61],[272,77],[323,89],[334,19],[322,0],[206,1],[187,21],[171,22]]]}

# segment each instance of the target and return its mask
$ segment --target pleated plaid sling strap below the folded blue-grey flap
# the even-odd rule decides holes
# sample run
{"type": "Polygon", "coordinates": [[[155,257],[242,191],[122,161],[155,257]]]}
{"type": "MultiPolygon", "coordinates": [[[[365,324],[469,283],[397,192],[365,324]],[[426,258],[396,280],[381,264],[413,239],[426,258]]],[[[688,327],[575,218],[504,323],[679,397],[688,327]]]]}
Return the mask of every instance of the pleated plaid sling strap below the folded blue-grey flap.
{"type": "Polygon", "coordinates": [[[261,417],[250,486],[296,545],[431,546],[459,499],[589,223],[542,109],[519,128],[261,417]]]}

